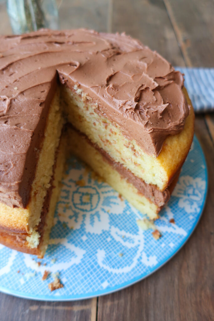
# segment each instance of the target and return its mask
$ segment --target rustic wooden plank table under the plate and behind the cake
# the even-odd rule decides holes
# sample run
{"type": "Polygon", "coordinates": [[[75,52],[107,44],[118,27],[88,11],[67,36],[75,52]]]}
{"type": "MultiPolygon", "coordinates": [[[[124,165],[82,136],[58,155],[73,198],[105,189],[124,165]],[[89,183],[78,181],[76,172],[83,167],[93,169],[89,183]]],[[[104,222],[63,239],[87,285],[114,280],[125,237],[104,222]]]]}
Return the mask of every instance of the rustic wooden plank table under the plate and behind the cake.
{"type": "MultiPolygon", "coordinates": [[[[213,0],[64,0],[59,8],[61,29],[126,31],[175,66],[214,67],[213,15],[213,0]]],[[[11,33],[2,0],[0,21],[0,33],[11,33]]],[[[214,320],[214,114],[196,116],[195,134],[208,165],[207,203],[172,260],[145,280],[94,299],[40,302],[0,293],[0,320],[214,320]]]]}

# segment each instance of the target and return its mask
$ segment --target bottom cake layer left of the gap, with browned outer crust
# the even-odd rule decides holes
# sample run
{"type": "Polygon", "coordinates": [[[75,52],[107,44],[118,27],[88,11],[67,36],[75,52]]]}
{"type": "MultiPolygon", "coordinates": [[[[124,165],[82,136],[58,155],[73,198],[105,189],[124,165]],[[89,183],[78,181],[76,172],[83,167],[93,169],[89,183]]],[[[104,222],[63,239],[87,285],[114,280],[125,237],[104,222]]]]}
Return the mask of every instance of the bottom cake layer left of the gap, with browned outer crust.
{"type": "Polygon", "coordinates": [[[40,215],[40,222],[36,228],[36,232],[39,232],[40,235],[39,245],[37,247],[31,246],[31,244],[33,244],[33,236],[28,233],[17,233],[0,227],[1,244],[20,252],[37,255],[39,258],[42,258],[45,255],[49,242],[50,230],[53,226],[54,212],[60,192],[60,181],[63,175],[64,164],[65,138],[62,138],[55,162],[54,177],[50,182],[51,186],[47,190],[47,195],[40,215]]]}

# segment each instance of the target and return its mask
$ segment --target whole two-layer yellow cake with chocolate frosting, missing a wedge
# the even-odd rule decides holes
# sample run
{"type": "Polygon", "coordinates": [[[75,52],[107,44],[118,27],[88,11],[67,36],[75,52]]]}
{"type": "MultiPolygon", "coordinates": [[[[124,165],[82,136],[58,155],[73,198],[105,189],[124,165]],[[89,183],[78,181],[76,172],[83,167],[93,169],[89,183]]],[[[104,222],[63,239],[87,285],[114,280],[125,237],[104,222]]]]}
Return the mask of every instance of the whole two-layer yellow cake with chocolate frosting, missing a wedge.
{"type": "Polygon", "coordinates": [[[193,139],[183,76],[124,34],[40,30],[1,44],[0,242],[44,255],[66,150],[158,218],[193,139]]]}

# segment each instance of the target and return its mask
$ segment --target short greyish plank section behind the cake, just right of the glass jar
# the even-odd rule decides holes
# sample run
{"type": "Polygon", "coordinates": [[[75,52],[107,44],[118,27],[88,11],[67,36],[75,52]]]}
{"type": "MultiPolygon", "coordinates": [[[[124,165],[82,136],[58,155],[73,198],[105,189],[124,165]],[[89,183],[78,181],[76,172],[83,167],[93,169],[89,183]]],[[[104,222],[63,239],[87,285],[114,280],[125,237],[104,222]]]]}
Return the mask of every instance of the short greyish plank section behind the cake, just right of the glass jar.
{"type": "Polygon", "coordinates": [[[107,31],[107,13],[108,0],[63,0],[59,7],[60,29],[107,31]]]}

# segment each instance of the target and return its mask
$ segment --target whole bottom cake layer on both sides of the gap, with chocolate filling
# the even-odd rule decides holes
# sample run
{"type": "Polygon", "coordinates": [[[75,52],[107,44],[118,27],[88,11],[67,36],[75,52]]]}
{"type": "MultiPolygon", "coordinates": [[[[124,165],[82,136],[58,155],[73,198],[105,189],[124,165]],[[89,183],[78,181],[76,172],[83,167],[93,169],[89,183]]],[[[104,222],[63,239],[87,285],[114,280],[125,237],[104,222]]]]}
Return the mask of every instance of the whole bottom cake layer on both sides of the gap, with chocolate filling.
{"type": "Polygon", "coordinates": [[[147,214],[152,220],[158,218],[161,208],[167,203],[179,177],[176,173],[170,186],[160,192],[154,185],[146,184],[135,177],[130,171],[125,170],[120,163],[113,162],[111,157],[98,148],[97,145],[72,126],[67,127],[67,133],[61,139],[54,177],[47,190],[40,222],[35,232],[40,235],[39,245],[33,246],[33,235],[18,233],[0,227],[0,243],[18,251],[34,254],[42,258],[46,252],[50,230],[60,191],[60,181],[63,175],[64,163],[67,153],[70,152],[90,166],[101,178],[127,199],[141,213],[147,214]]]}

